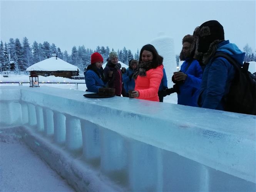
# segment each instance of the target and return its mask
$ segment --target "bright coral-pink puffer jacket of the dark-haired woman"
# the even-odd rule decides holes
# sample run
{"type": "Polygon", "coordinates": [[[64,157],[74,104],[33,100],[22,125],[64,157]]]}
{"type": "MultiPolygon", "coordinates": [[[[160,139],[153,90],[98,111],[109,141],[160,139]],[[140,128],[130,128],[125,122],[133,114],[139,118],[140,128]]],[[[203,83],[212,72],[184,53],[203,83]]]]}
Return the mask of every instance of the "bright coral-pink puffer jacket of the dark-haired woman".
{"type": "Polygon", "coordinates": [[[135,88],[139,92],[137,99],[145,99],[149,101],[158,101],[158,89],[163,77],[163,65],[152,68],[146,72],[146,76],[140,76],[135,80],[135,88]]]}

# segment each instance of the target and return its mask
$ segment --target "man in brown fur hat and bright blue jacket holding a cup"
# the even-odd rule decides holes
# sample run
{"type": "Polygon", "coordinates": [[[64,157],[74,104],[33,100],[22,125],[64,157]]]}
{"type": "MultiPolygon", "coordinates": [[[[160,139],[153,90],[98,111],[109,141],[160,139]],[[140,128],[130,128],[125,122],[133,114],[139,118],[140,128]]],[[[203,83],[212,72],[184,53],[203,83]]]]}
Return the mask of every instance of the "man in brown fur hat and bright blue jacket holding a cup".
{"type": "Polygon", "coordinates": [[[197,93],[202,82],[202,68],[194,59],[194,37],[185,35],[182,39],[182,50],[180,60],[184,61],[179,72],[174,72],[172,81],[174,92],[177,92],[178,104],[198,107],[197,93]]]}

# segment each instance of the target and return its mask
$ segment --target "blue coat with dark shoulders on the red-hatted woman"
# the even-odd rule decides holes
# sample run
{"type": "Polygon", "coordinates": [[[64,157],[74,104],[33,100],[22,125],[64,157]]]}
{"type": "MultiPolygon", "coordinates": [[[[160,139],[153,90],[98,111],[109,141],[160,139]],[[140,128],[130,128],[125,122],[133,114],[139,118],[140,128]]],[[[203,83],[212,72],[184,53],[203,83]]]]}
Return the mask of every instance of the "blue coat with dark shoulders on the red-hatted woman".
{"type": "Polygon", "coordinates": [[[105,87],[102,67],[99,69],[95,65],[89,65],[84,74],[86,87],[89,92],[98,93],[99,88],[105,87]]]}

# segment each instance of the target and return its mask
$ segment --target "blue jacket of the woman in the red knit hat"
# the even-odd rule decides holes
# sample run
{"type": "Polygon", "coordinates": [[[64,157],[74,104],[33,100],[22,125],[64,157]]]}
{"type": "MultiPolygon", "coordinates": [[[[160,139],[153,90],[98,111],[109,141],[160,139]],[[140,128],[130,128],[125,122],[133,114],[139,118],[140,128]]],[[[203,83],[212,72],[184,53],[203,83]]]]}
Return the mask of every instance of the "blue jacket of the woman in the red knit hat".
{"type": "Polygon", "coordinates": [[[87,90],[93,93],[98,93],[98,89],[105,86],[99,75],[90,69],[85,72],[85,83],[87,90]]]}

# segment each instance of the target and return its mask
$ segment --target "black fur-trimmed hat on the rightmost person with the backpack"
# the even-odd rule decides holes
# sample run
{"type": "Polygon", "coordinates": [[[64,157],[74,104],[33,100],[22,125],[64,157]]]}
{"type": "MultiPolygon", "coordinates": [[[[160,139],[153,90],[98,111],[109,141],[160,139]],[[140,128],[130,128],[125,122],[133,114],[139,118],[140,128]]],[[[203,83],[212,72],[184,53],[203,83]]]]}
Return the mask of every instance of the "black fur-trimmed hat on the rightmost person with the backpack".
{"type": "Polygon", "coordinates": [[[204,22],[199,27],[198,38],[198,52],[205,53],[212,42],[225,39],[223,26],[216,20],[204,22]]]}

